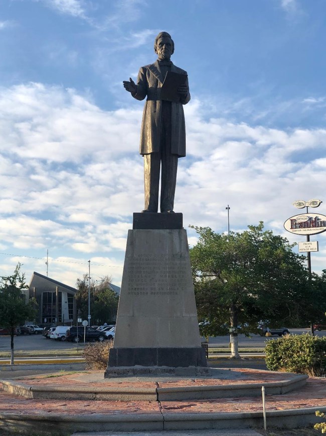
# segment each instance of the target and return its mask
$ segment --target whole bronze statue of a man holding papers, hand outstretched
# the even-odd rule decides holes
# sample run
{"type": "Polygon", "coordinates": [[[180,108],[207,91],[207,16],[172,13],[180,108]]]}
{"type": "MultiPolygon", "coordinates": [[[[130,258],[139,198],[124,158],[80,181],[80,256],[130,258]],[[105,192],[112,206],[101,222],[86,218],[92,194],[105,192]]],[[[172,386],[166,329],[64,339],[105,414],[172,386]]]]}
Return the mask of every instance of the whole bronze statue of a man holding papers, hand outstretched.
{"type": "Polygon", "coordinates": [[[144,156],[145,207],[142,212],[158,210],[160,167],[160,212],[173,212],[178,158],[186,156],[183,105],[190,100],[188,75],[171,62],[174,49],[169,33],[160,32],[154,42],[158,59],[139,69],[137,83],[131,78],[123,82],[133,98],[147,97],[139,150],[144,156]]]}

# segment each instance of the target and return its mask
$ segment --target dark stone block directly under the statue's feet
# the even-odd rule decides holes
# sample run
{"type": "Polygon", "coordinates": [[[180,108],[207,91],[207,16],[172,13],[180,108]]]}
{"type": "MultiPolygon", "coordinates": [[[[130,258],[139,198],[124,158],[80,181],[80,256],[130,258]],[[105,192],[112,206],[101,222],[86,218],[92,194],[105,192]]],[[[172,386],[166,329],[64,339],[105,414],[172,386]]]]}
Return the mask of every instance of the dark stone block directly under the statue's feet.
{"type": "Polygon", "coordinates": [[[182,213],[138,213],[134,212],[133,230],[182,229],[182,213]]]}

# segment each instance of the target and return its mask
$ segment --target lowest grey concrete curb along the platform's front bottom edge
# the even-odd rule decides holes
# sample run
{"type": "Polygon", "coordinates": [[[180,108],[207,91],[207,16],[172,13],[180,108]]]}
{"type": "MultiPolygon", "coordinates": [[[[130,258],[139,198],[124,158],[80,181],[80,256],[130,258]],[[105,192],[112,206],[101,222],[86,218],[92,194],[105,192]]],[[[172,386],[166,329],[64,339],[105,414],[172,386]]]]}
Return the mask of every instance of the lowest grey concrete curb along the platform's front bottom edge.
{"type": "MultiPolygon", "coordinates": [[[[305,427],[321,418],[315,411],[326,412],[326,407],[310,407],[305,409],[272,410],[266,412],[269,427],[305,427]]],[[[67,434],[67,431],[150,431],[150,430],[196,430],[196,429],[228,429],[228,428],[261,428],[262,412],[230,412],[230,413],[148,413],[148,414],[92,414],[63,415],[39,413],[24,415],[18,413],[0,413],[0,428],[10,431],[21,431],[29,434],[37,430],[38,434],[67,434]],[[40,430],[40,424],[46,430],[40,430]]]]}

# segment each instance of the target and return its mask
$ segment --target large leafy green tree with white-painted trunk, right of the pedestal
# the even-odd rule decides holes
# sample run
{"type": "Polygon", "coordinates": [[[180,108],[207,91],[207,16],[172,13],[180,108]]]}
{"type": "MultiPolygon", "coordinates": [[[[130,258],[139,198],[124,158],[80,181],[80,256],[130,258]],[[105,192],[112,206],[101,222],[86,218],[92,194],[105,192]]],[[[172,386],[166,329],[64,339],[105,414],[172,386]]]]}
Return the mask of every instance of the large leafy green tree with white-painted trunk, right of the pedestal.
{"type": "Polygon", "coordinates": [[[239,325],[248,335],[258,332],[260,320],[291,326],[305,317],[312,284],[305,257],[292,250],[295,244],[264,230],[263,222],[230,235],[191,227],[199,234],[190,258],[199,319],[207,321],[203,334],[233,329],[231,357],[240,357],[239,325]]]}

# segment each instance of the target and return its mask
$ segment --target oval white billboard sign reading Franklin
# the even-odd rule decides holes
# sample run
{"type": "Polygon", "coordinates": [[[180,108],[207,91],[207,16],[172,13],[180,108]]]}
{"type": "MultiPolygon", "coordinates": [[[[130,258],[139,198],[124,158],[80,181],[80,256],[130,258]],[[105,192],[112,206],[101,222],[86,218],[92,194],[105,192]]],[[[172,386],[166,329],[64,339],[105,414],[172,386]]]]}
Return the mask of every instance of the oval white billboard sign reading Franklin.
{"type": "Polygon", "coordinates": [[[294,215],[285,221],[284,228],[297,235],[315,235],[326,230],[326,216],[318,213],[294,215]]]}

